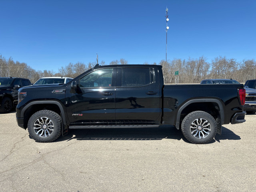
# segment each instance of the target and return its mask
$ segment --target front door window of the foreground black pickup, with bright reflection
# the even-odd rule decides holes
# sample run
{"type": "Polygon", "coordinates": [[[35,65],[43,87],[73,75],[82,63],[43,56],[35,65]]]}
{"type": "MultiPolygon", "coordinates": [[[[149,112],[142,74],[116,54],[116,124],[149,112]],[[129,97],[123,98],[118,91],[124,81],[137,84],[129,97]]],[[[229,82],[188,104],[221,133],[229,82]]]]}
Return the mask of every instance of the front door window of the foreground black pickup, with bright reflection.
{"type": "Polygon", "coordinates": [[[90,74],[80,79],[79,87],[80,88],[111,87],[112,73],[113,73],[113,68],[100,69],[100,70],[91,72],[90,74]]]}

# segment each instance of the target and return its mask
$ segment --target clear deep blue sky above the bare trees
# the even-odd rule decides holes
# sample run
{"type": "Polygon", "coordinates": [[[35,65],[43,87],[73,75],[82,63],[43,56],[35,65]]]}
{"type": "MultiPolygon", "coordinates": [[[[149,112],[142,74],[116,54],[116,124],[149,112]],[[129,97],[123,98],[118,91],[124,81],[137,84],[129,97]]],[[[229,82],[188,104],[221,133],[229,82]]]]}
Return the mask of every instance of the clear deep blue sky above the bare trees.
{"type": "Polygon", "coordinates": [[[70,62],[256,58],[255,0],[0,0],[0,54],[35,70],[70,62]]]}

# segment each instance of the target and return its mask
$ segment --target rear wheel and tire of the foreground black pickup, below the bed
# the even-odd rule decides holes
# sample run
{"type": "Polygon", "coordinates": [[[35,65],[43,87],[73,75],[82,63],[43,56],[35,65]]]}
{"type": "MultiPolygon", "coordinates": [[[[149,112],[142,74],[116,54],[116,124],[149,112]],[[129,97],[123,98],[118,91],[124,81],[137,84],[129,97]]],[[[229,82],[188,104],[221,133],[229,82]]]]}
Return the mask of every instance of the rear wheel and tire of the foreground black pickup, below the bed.
{"type": "Polygon", "coordinates": [[[212,141],[217,132],[216,120],[204,111],[188,114],[181,124],[185,138],[194,144],[206,144],[212,141]]]}

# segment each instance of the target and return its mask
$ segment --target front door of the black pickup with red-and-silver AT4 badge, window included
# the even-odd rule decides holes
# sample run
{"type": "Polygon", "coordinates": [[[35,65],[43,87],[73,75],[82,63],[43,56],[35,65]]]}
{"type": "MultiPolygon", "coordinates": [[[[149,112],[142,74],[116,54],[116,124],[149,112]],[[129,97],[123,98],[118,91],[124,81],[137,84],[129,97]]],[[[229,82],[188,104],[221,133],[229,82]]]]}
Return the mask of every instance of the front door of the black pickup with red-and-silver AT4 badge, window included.
{"type": "Polygon", "coordinates": [[[76,90],[67,88],[66,91],[70,125],[83,126],[115,120],[116,68],[96,69],[76,82],[76,90]]]}

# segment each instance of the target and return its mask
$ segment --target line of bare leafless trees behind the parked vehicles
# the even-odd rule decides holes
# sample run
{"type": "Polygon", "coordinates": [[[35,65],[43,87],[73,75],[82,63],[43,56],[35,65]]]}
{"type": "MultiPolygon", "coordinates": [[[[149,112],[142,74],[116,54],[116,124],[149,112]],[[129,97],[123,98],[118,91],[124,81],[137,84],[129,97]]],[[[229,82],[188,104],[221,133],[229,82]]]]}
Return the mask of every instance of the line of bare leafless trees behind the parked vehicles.
{"type": "MultiPolygon", "coordinates": [[[[113,64],[128,64],[128,61],[121,58],[109,63],[113,64]]],[[[144,62],[143,64],[157,64],[144,62]]],[[[234,58],[226,58],[225,56],[218,56],[208,62],[202,56],[200,58],[188,58],[186,60],[174,59],[161,60],[159,65],[162,65],[164,74],[164,83],[200,83],[203,79],[234,79],[238,82],[246,82],[249,79],[256,78],[256,61],[254,59],[236,61],[234,58]],[[174,72],[178,71],[178,76],[174,72]]],[[[14,62],[12,58],[8,60],[0,55],[0,77],[21,77],[28,78],[32,83],[39,78],[49,76],[66,76],[75,78],[82,72],[93,68],[96,62],[77,62],[75,64],[69,63],[67,66],[62,66],[58,72],[53,70],[35,70],[24,62],[14,62]]],[[[105,62],[100,62],[100,65],[105,65],[105,62]]]]}

